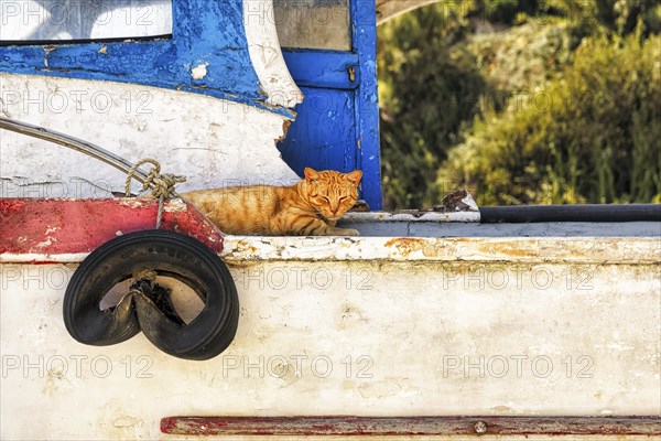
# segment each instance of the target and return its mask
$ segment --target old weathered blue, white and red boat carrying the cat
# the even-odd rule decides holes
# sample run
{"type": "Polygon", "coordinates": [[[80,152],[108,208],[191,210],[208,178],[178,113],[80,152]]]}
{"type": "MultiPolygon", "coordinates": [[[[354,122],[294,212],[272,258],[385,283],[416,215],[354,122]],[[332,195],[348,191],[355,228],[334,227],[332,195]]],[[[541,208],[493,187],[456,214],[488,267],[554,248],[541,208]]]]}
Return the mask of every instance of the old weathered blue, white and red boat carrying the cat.
{"type": "MultiPolygon", "coordinates": [[[[0,7],[0,438],[660,434],[659,206],[380,212],[373,0],[0,7]],[[84,345],[63,320],[76,269],[158,203],[10,120],[156,158],[182,190],[358,168],[372,211],[345,220],[360,237],[237,237],[169,201],[163,229],[229,268],[231,344],[84,345]]],[[[165,279],[192,323],[199,299],[165,279]]]]}

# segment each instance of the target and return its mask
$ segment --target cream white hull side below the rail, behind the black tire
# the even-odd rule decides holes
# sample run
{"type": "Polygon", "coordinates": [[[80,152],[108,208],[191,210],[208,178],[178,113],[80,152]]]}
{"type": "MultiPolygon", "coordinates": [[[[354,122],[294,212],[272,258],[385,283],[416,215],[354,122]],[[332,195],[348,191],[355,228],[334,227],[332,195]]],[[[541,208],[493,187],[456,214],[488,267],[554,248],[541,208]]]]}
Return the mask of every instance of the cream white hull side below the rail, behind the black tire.
{"type": "Polygon", "coordinates": [[[80,345],[62,319],[75,265],[3,265],[2,439],[169,439],[159,421],[181,415],[661,411],[654,265],[617,262],[619,251],[613,263],[563,261],[551,243],[537,263],[516,257],[525,244],[502,261],[297,259],[333,246],[310,240],[284,245],[288,258],[247,260],[259,241],[230,238],[224,251],[239,330],[207,362],[167,356],[141,334],[80,345]]]}

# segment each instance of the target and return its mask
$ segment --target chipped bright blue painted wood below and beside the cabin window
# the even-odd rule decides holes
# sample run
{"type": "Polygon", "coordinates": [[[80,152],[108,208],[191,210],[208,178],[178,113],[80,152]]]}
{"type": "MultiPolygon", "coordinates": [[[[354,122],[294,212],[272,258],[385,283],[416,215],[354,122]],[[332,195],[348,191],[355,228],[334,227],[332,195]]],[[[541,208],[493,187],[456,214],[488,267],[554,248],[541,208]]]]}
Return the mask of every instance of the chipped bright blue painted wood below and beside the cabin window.
{"type": "Polygon", "coordinates": [[[172,17],[171,39],[0,45],[0,72],[143,84],[293,115],[266,105],[248,53],[242,0],[173,0],[172,17]],[[191,69],[202,64],[207,75],[193,79],[191,69]]]}

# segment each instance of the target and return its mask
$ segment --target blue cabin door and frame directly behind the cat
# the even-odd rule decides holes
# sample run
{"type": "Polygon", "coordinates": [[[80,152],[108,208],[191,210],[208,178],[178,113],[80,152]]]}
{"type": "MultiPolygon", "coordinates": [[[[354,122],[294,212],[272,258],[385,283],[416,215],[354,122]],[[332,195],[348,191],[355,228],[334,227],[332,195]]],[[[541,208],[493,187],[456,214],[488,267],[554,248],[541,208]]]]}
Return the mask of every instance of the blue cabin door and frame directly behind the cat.
{"type": "Polygon", "coordinates": [[[362,170],[361,197],[381,209],[377,13],[375,0],[350,0],[350,52],[283,49],[305,95],[279,149],[300,175],[318,170],[362,170]]]}

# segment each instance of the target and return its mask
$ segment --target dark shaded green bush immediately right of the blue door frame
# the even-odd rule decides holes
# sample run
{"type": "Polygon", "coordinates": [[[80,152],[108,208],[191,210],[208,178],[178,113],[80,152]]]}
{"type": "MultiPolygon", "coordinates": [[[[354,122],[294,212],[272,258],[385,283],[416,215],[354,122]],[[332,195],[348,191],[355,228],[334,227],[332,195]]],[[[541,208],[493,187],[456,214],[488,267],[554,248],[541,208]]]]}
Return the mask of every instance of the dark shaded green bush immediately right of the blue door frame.
{"type": "Polygon", "coordinates": [[[474,57],[449,51],[464,32],[460,4],[437,3],[379,28],[379,99],[384,206],[438,201],[434,181],[486,84],[474,57]]]}

